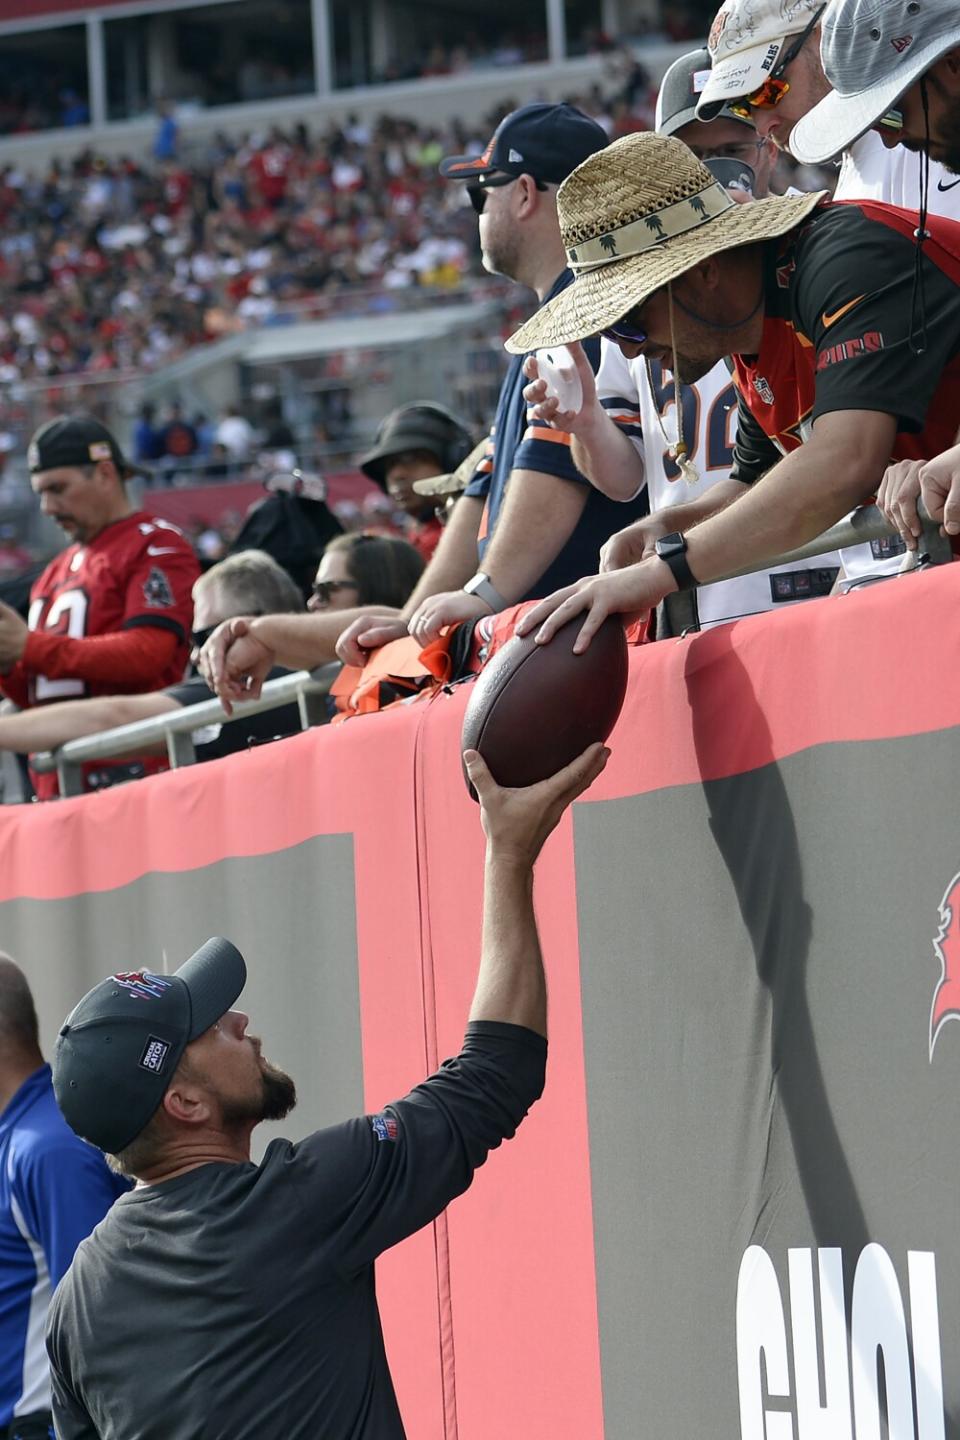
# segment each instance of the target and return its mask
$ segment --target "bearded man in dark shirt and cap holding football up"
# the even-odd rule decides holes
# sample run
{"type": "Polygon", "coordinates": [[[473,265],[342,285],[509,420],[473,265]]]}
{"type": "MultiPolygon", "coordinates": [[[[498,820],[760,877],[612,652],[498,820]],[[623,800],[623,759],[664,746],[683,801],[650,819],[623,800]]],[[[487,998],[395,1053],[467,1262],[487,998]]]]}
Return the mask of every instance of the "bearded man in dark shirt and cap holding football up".
{"type": "Polygon", "coordinates": [[[373,1263],[429,1224],[511,1138],[547,1056],[533,867],[600,773],[600,744],[499,789],[465,765],[484,829],[481,965],[463,1048],[377,1115],[273,1140],[294,1081],[235,1005],[240,953],[102,981],[60,1031],[56,1099],[137,1188],[81,1246],[47,1328],[60,1440],[403,1440],[373,1263]]]}

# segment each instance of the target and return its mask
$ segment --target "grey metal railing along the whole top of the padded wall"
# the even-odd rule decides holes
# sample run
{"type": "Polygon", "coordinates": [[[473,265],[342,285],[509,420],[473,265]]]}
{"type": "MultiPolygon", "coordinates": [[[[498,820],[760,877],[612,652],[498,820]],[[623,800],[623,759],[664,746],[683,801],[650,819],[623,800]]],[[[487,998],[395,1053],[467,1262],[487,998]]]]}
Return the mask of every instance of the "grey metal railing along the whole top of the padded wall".
{"type": "MultiPolygon", "coordinates": [[[[925,563],[943,564],[953,559],[950,541],[940,536],[940,528],[923,514],[924,534],[920,541],[918,554],[925,563]]],[[[818,554],[826,554],[843,546],[862,544],[869,540],[881,540],[895,536],[897,531],[887,521],[877,505],[864,505],[845,520],[832,526],[816,540],[786,552],[771,564],[790,564],[796,560],[809,560],[818,554]]],[[[750,575],[753,570],[769,569],[769,566],[747,566],[741,570],[731,570],[730,575],[720,576],[728,580],[738,575],[750,575]]],[[[882,576],[892,579],[892,576],[882,576]]],[[[859,580],[864,583],[864,577],[859,580]]],[[[682,635],[695,628],[695,611],[691,608],[689,595],[671,595],[666,603],[668,635],[682,635]]],[[[237,716],[255,714],[261,710],[273,710],[278,706],[289,704],[295,700],[299,706],[301,729],[311,724],[324,723],[328,719],[327,696],[338,671],[337,664],[328,664],[317,671],[298,670],[279,680],[271,680],[263,685],[258,700],[248,700],[235,706],[237,716]]],[[[102,730],[99,734],[85,736],[82,740],[71,740],[58,750],[46,750],[33,756],[32,765],[37,772],[56,770],[60,783],[60,795],[79,795],[82,792],[82,766],[89,760],[115,759],[121,755],[142,753],[144,746],[166,743],[171,769],[181,765],[191,765],[196,752],[191,733],[203,726],[225,723],[223,708],[219,700],[204,700],[199,706],[187,706],[170,714],[157,716],[151,720],[138,720],[134,724],[118,726],[114,730],[102,730]]]]}

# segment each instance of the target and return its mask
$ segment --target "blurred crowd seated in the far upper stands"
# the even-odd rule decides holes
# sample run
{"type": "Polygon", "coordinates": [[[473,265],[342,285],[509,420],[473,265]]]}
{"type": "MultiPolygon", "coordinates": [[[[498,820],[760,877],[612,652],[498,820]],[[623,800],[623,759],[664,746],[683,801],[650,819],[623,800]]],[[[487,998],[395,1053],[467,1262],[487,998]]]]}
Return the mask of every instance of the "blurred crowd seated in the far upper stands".
{"type": "MultiPolygon", "coordinates": [[[[633,60],[577,96],[612,137],[652,124],[633,60]]],[[[0,387],[150,372],[191,347],[344,289],[436,291],[479,275],[474,215],[438,174],[471,128],[356,117],[161,160],[92,151],[0,170],[0,387]]]]}

